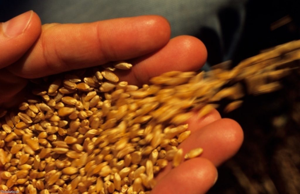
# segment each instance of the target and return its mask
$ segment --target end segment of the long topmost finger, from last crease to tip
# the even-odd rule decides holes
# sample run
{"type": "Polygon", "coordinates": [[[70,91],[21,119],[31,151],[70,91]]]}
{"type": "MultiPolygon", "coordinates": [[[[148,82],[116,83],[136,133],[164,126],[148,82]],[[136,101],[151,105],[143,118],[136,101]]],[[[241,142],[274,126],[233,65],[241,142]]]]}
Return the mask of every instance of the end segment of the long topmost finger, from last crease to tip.
{"type": "Polygon", "coordinates": [[[164,47],[171,35],[169,22],[158,15],[104,20],[90,23],[90,26],[98,32],[102,44],[99,54],[103,55],[104,62],[152,53],[164,47]]]}

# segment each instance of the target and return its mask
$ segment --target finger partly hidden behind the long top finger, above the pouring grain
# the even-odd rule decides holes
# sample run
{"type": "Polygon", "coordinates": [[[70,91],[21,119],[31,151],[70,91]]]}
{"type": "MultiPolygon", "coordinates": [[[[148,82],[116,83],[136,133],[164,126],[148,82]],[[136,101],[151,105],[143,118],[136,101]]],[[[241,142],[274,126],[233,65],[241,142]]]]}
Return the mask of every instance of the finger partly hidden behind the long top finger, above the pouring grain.
{"type": "Polygon", "coordinates": [[[192,36],[171,39],[161,50],[131,60],[131,71],[119,71],[120,80],[134,85],[148,83],[149,78],[167,71],[196,71],[205,63],[207,51],[204,44],[192,36]]]}

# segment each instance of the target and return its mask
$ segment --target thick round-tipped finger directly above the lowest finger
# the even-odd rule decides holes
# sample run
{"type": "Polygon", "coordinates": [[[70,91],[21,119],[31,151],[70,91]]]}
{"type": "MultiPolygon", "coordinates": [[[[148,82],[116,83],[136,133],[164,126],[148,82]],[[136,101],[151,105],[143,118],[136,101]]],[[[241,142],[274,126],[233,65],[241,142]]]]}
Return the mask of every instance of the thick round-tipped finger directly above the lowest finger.
{"type": "Polygon", "coordinates": [[[179,148],[184,154],[189,150],[201,147],[201,157],[209,159],[215,166],[219,166],[232,157],[244,139],[241,126],[231,119],[219,119],[194,131],[184,140],[179,148]]]}

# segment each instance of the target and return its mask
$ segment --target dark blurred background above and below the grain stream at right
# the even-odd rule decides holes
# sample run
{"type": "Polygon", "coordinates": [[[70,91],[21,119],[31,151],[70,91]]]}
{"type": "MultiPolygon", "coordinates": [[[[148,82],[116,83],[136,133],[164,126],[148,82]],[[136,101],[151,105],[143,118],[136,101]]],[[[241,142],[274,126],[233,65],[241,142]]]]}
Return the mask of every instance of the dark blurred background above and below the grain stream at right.
{"type": "MultiPolygon", "coordinates": [[[[249,1],[244,31],[232,57],[234,64],[260,50],[299,39],[298,2],[249,1]],[[271,30],[274,22],[286,16],[291,22],[271,30]]],[[[236,156],[219,168],[219,179],[208,193],[300,193],[299,71],[281,82],[283,89],[247,96],[242,107],[222,114],[240,123],[244,143],[236,156]]]]}

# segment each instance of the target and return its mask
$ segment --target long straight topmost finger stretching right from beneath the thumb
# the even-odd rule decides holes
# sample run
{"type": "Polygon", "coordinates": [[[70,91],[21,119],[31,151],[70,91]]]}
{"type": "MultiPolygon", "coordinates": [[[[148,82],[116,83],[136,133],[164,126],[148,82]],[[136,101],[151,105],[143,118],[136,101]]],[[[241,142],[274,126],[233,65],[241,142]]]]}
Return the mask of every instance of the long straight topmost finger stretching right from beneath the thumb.
{"type": "Polygon", "coordinates": [[[160,16],[43,26],[32,50],[9,70],[35,78],[135,58],[163,47],[170,26],[160,16]]]}

